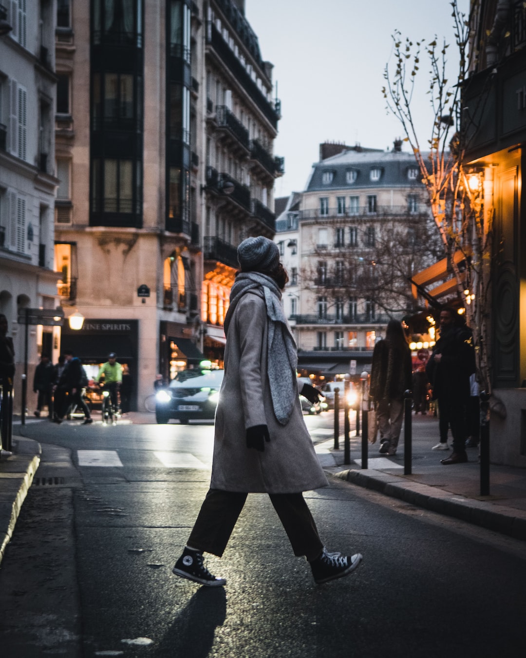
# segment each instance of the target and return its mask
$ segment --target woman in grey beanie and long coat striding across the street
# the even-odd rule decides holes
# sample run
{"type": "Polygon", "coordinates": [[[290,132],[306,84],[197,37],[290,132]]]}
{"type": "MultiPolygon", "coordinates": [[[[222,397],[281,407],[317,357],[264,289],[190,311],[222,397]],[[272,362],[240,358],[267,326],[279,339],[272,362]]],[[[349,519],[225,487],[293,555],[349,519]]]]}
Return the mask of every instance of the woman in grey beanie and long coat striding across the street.
{"type": "Polygon", "coordinates": [[[304,555],[317,583],[346,576],[362,560],[329,553],[302,492],[327,486],[304,424],[299,393],[319,392],[297,381],[297,347],[281,304],[288,281],[277,245],[247,238],[237,249],[241,272],[225,318],[225,374],[216,411],[212,479],[187,545],[173,572],[222,586],[203,563],[221,557],[247,494],[266,492],[295,555],[304,555]]]}

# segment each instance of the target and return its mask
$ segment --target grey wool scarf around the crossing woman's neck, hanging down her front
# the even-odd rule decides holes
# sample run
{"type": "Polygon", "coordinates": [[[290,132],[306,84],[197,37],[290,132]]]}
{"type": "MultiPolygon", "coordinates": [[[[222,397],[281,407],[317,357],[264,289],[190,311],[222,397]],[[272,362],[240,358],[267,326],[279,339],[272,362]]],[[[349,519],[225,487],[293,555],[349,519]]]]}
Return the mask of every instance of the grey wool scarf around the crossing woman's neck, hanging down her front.
{"type": "Polygon", "coordinates": [[[230,306],[224,323],[225,335],[237,303],[249,291],[257,293],[265,300],[268,317],[268,380],[272,407],[277,422],[286,425],[298,398],[298,353],[289,323],[283,313],[281,290],[273,278],[259,272],[241,272],[237,275],[230,291],[230,306]]]}

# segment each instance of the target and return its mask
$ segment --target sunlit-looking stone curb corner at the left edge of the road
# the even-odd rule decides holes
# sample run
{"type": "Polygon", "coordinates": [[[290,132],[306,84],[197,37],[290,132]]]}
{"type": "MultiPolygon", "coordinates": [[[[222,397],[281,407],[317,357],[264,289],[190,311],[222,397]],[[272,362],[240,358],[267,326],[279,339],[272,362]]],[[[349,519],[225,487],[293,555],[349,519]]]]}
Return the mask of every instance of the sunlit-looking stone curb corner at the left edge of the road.
{"type": "Polygon", "coordinates": [[[13,437],[13,443],[15,453],[2,463],[0,470],[0,564],[41,455],[40,444],[36,441],[13,437]]]}

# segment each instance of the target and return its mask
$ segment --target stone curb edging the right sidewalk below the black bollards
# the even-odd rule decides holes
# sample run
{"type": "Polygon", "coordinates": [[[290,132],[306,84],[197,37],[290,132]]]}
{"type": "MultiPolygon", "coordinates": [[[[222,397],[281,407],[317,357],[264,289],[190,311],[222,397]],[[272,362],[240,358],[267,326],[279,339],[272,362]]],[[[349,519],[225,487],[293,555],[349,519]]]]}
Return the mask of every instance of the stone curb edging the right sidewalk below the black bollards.
{"type": "Polygon", "coordinates": [[[327,475],[352,482],[433,512],[526,541],[526,511],[473,500],[418,482],[401,482],[396,475],[377,470],[341,470],[327,475]]]}

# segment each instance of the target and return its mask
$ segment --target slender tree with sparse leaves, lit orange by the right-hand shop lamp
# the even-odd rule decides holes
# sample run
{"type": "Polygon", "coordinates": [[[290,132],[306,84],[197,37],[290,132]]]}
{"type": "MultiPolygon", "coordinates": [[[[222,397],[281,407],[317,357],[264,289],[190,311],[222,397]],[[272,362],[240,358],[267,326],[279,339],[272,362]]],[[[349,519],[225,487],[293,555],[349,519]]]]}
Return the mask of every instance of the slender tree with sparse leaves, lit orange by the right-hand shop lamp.
{"type": "Polygon", "coordinates": [[[485,194],[485,183],[492,172],[488,168],[469,168],[466,151],[477,130],[480,107],[487,94],[481,94],[479,106],[468,114],[462,107],[462,91],[471,66],[468,54],[470,20],[458,9],[457,0],[450,3],[455,28],[458,70],[454,80],[446,74],[449,45],[441,45],[435,36],[411,41],[393,35],[395,70],[385,67],[383,95],[387,109],[400,120],[418,163],[425,185],[431,213],[435,220],[448,268],[456,278],[458,294],[466,301],[466,320],[473,331],[477,371],[487,392],[489,376],[489,293],[492,236],[492,196],[485,194]],[[433,110],[431,134],[425,149],[416,132],[412,99],[421,66],[421,54],[429,64],[429,102],[433,110]],[[460,266],[462,263],[462,266],[460,266]]]}

